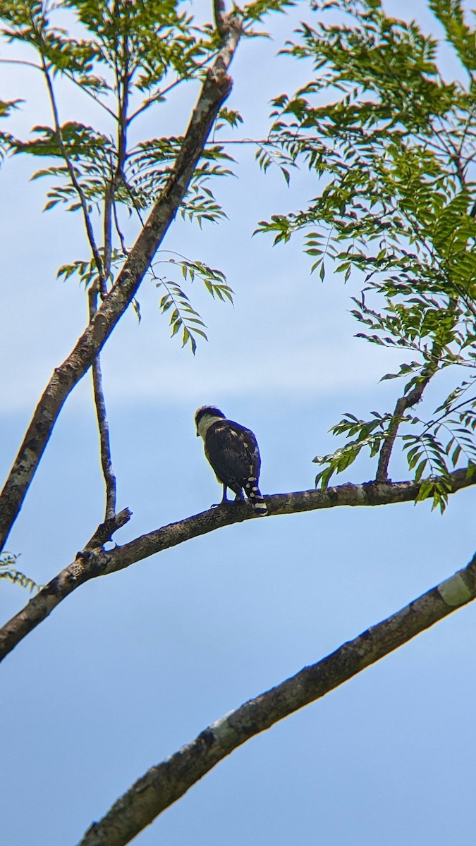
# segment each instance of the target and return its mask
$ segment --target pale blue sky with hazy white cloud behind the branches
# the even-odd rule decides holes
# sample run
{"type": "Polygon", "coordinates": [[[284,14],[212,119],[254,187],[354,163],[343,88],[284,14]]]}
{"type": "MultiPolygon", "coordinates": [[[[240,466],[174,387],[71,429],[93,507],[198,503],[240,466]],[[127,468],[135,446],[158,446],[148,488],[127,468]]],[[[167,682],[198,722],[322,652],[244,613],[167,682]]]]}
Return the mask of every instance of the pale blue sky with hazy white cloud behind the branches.
{"type": "MultiPolygon", "coordinates": [[[[203,7],[200,0],[193,8],[203,7]]],[[[387,8],[438,32],[423,0],[387,8]]],[[[304,63],[275,54],[308,16],[299,3],[270,20],[272,40],[241,44],[227,105],[245,118],[244,137],[264,134],[270,98],[307,79],[304,63]]],[[[97,120],[91,102],[61,86],[59,95],[62,120],[97,120]]],[[[49,122],[30,70],[4,65],[1,96],[25,98],[16,132],[49,122]]],[[[156,116],[147,118],[144,134],[183,132],[195,97],[192,86],[180,93],[159,129],[156,116]]],[[[208,325],[209,342],[193,357],[169,338],[160,294],[144,283],[141,323],[130,310],[102,356],[118,508],[133,511],[118,543],[220,496],[195,437],[197,406],[217,404],[256,433],[266,494],[313,487],[313,456],[335,448],[329,427],[341,413],[395,404],[395,382],[379,377],[401,356],[353,337],[351,285],[311,276],[298,240],[272,247],[267,236],[252,237],[257,221],[313,196],[312,176],[298,173],[287,188],[278,173],[258,170],[251,148],[233,155],[237,178],[217,187],[228,219],[202,230],[176,220],[158,258],[178,252],[218,267],[235,306],[214,302],[199,283],[187,291],[208,325]]],[[[46,183],[29,177],[30,162],[20,158],[0,171],[3,476],[86,317],[84,290],[56,279],[58,266],[87,255],[80,218],[42,213],[46,183]]],[[[125,226],[133,239],[133,224],[125,226]]],[[[337,481],[373,473],[359,459],[337,481]]],[[[407,477],[397,457],[390,475],[407,477]]],[[[19,569],[40,584],[53,578],[101,521],[103,499],[85,376],[8,540],[19,569]]],[[[210,722],[464,566],[474,551],[473,513],[468,490],[443,517],[423,503],[253,520],[75,591],[0,670],[2,846],[78,843],[136,778],[210,722]]],[[[6,621],[27,594],[0,586],[6,621]]],[[[470,605],[451,615],[241,747],[134,842],[473,843],[474,614],[470,605]]]]}

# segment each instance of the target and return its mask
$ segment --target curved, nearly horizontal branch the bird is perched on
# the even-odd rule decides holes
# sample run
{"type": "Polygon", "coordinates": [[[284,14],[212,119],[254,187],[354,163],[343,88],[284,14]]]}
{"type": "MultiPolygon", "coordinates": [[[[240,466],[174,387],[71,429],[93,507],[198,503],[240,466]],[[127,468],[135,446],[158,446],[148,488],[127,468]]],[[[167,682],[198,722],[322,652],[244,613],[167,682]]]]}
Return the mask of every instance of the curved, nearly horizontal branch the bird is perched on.
{"type": "MultiPolygon", "coordinates": [[[[329,487],[325,491],[277,493],[265,499],[268,514],[271,516],[298,514],[303,511],[336,508],[342,505],[374,506],[407,503],[417,497],[423,481],[382,484],[369,481],[363,485],[348,484],[329,487]]],[[[463,487],[475,485],[476,475],[468,478],[466,470],[455,470],[451,474],[451,481],[451,492],[454,493],[463,487]]],[[[125,519],[127,522],[130,513],[125,510],[117,515],[118,519],[121,514],[127,515],[125,519]]],[[[201,514],[194,514],[193,517],[163,526],[161,529],[125,543],[123,547],[114,547],[108,552],[102,548],[102,544],[110,539],[111,531],[108,527],[114,524],[106,521],[86,544],[85,549],[78,552],[75,561],[55,576],[42,591],[30,599],[22,611],[0,629],[0,661],[14,649],[20,640],[42,623],[66,596],[86,581],[95,579],[97,576],[116,573],[129,567],[130,564],[155,555],[156,552],[163,552],[185,541],[191,541],[194,537],[208,535],[209,532],[248,519],[258,519],[248,503],[229,503],[219,508],[209,508],[201,514]]],[[[115,526],[113,531],[117,528],[118,526],[115,526]]]]}

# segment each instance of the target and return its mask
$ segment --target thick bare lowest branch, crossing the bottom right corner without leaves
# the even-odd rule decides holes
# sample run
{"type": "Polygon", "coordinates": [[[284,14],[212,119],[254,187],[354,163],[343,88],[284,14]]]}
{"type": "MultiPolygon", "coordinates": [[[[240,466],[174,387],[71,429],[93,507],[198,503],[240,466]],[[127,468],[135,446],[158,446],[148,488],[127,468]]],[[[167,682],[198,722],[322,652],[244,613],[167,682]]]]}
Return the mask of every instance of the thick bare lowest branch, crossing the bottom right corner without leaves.
{"type": "Polygon", "coordinates": [[[476,554],[462,570],[355,640],[213,722],[191,744],[152,766],[79,846],[125,846],[213,766],[246,740],[361,673],[417,634],[476,598],[476,554]]]}

